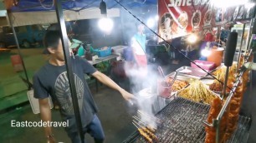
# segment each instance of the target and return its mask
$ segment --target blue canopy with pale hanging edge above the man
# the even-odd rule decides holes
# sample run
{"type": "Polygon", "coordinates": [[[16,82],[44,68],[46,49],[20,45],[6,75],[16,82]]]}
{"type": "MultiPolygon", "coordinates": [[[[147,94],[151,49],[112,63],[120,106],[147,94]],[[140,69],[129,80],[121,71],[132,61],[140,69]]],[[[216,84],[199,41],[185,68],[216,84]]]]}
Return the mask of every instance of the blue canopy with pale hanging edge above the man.
{"type": "MultiPolygon", "coordinates": [[[[57,22],[54,0],[4,0],[11,12],[13,26],[47,24],[57,22]],[[16,6],[13,5],[13,2],[16,6]]],[[[156,0],[117,0],[128,9],[156,6],[156,0]]],[[[62,0],[66,21],[100,18],[101,0],[62,0]]],[[[108,17],[120,17],[120,5],[115,0],[105,0],[108,17]]]]}

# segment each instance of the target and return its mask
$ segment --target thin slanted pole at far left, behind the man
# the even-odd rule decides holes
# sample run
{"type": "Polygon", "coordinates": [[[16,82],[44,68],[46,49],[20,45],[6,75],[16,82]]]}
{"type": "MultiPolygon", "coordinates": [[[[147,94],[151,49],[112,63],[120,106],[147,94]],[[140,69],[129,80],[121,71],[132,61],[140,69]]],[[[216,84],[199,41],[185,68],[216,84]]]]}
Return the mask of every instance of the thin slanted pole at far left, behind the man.
{"type": "MultiPolygon", "coordinates": [[[[16,34],[15,29],[14,29],[14,27],[13,27],[13,19],[10,17],[10,14],[11,14],[10,10],[7,11],[7,14],[8,14],[8,21],[9,21],[11,27],[12,27],[12,30],[13,30],[13,36],[14,36],[15,42],[16,42],[17,47],[18,47],[18,55],[19,55],[20,58],[21,58],[21,62],[22,62],[22,65],[23,65],[23,70],[24,70],[25,76],[26,76],[26,80],[29,82],[29,79],[28,79],[28,72],[27,72],[27,69],[26,69],[25,64],[24,64],[24,61],[23,61],[23,55],[22,55],[22,53],[20,52],[20,47],[19,47],[19,44],[18,44],[17,34],[16,34]]],[[[31,88],[32,88],[32,86],[30,86],[30,85],[28,84],[28,91],[29,91],[31,88]]]]}

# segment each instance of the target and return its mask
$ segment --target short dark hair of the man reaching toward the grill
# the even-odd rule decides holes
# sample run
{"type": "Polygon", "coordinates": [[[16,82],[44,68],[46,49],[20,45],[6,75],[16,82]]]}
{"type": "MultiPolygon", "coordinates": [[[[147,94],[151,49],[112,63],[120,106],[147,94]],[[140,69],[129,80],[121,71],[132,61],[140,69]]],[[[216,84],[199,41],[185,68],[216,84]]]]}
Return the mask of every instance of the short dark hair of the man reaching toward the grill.
{"type": "Polygon", "coordinates": [[[61,37],[61,34],[59,31],[48,31],[44,35],[44,47],[53,47],[57,48],[59,45],[59,39],[61,37]]]}

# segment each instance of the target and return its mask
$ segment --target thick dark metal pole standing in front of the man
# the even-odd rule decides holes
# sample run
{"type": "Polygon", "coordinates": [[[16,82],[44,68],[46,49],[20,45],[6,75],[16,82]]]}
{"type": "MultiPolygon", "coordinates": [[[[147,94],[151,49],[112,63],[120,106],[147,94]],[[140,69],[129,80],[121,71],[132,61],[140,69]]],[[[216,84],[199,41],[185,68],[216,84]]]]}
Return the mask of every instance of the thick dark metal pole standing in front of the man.
{"type": "Polygon", "coordinates": [[[65,65],[67,68],[67,75],[69,79],[69,88],[72,96],[72,103],[74,107],[74,116],[76,121],[77,130],[79,132],[79,137],[82,143],[84,143],[84,133],[83,133],[83,127],[82,127],[82,121],[81,116],[79,113],[79,104],[77,99],[77,92],[74,84],[74,74],[73,69],[71,65],[71,57],[69,56],[69,38],[67,36],[67,31],[65,27],[65,21],[64,21],[64,14],[61,7],[61,0],[55,0],[55,8],[56,8],[56,14],[58,19],[58,24],[61,31],[61,42],[63,45],[63,51],[64,51],[64,58],[65,58],[65,65]]]}

